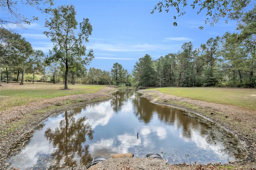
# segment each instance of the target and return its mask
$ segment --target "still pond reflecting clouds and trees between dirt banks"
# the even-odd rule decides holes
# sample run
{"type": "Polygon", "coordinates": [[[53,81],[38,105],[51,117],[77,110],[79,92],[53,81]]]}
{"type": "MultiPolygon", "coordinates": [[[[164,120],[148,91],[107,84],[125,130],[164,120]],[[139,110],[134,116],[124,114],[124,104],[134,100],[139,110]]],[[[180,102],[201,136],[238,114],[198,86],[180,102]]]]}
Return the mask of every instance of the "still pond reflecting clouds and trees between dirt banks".
{"type": "Polygon", "coordinates": [[[183,110],[150,103],[133,90],[115,92],[114,99],[52,115],[34,129],[11,167],[45,169],[49,164],[80,164],[98,155],[110,158],[158,153],[169,164],[226,163],[243,158],[239,141],[212,123],[183,110]]]}

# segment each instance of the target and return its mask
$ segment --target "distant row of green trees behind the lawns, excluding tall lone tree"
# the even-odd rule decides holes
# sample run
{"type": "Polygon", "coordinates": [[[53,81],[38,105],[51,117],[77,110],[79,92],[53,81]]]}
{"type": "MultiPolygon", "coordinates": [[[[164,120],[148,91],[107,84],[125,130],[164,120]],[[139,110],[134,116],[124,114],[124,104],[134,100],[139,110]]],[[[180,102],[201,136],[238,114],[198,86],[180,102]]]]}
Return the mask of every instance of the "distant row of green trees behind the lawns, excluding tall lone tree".
{"type": "MultiPolygon", "coordinates": [[[[234,35],[208,39],[200,48],[193,49],[191,42],[184,43],[178,53],[170,53],[153,60],[146,54],[134,65],[132,73],[119,63],[114,63],[111,71],[97,68],[88,70],[70,70],[68,82],[82,84],[104,84],[118,86],[148,87],[195,87],[195,86],[231,86],[256,87],[256,57],[254,51],[228,43],[234,35]],[[225,40],[225,41],[224,41],[225,40]]],[[[36,57],[32,58],[35,59],[36,57]]],[[[30,62],[33,60],[30,59],[30,62]]],[[[35,61],[35,60],[34,60],[35,61]]],[[[1,80],[20,81],[22,69],[18,66],[1,67],[1,80]],[[7,72],[8,70],[8,72],[7,72]]],[[[23,65],[22,65],[23,66],[23,65]]],[[[29,82],[64,82],[64,70],[61,64],[44,65],[43,61],[27,64],[25,81],[29,82]],[[37,66],[38,64],[38,66],[37,66]],[[40,70],[40,72],[36,72],[40,70]],[[40,69],[38,69],[40,68],[40,69]],[[45,71],[46,70],[46,71],[45,71]]],[[[23,66],[24,68],[24,66],[23,66]]]]}

